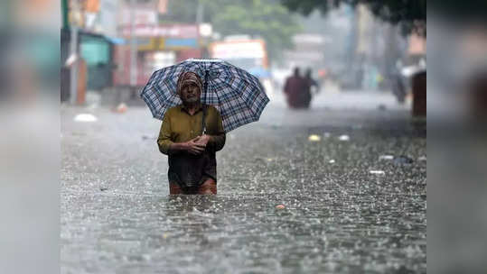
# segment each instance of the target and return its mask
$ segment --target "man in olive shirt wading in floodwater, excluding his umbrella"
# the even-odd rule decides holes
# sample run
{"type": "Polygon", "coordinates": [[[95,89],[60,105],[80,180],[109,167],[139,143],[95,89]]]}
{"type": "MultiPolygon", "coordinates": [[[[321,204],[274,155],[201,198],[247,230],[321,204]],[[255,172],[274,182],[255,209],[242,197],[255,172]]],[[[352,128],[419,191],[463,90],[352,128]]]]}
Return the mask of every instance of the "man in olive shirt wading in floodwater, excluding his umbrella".
{"type": "Polygon", "coordinates": [[[169,157],[170,194],[217,194],[215,152],[225,145],[225,132],[219,111],[201,104],[202,87],[197,74],[183,72],[177,82],[183,105],[164,114],[157,144],[169,157]]]}

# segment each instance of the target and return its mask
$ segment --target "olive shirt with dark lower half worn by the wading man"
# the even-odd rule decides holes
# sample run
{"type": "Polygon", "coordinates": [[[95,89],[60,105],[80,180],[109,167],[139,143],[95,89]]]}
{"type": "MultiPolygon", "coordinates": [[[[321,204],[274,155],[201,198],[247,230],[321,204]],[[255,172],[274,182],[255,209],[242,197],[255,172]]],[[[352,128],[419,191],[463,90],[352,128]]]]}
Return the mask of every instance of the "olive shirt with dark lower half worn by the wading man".
{"type": "Polygon", "coordinates": [[[168,154],[174,142],[188,142],[202,134],[202,116],[201,107],[194,114],[189,114],[183,105],[174,106],[164,114],[157,145],[159,151],[169,156],[169,181],[180,187],[196,186],[207,177],[216,181],[215,152],[225,145],[225,132],[221,115],[214,106],[206,106],[206,134],[211,136],[206,150],[201,155],[184,151],[168,154]]]}

